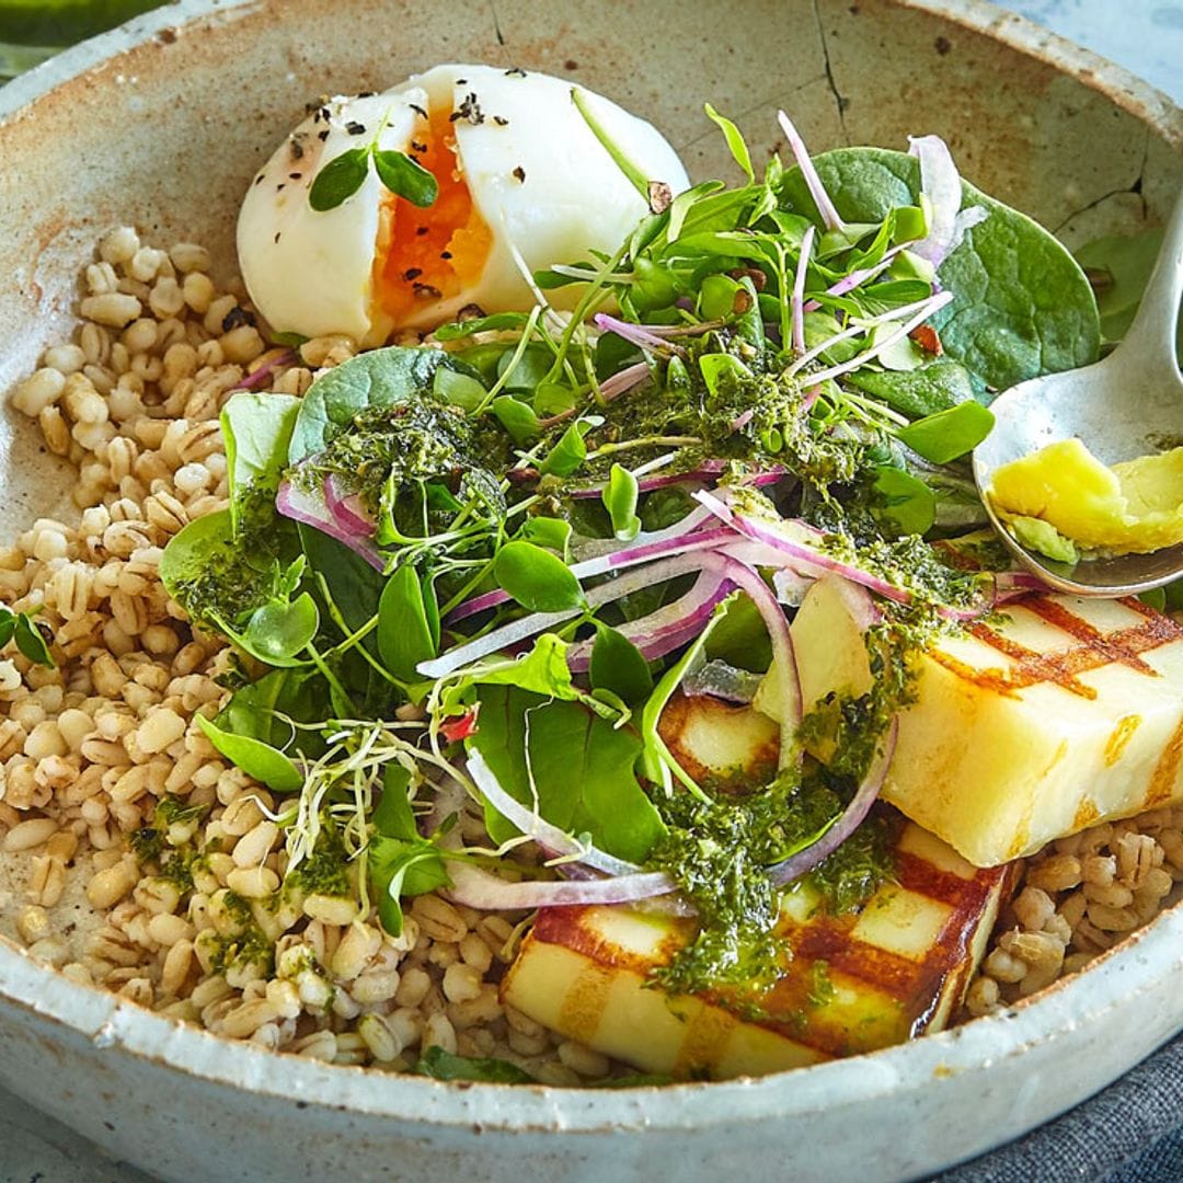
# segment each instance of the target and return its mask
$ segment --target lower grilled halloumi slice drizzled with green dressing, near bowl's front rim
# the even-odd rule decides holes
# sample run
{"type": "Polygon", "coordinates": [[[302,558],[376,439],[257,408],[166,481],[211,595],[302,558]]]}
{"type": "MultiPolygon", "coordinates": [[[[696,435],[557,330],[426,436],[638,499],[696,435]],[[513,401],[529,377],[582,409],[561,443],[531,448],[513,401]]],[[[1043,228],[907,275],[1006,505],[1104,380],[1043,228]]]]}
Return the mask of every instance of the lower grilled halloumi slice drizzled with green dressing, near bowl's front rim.
{"type": "Polygon", "coordinates": [[[939,1030],[961,1003],[1009,887],[919,827],[896,847],[898,879],[858,914],[829,917],[799,886],[778,932],[793,956],[745,1017],[725,993],[671,996],[648,975],[692,939],[692,920],[635,907],[538,913],[502,983],[536,1022],[635,1067],[679,1079],[758,1075],[939,1030]]]}

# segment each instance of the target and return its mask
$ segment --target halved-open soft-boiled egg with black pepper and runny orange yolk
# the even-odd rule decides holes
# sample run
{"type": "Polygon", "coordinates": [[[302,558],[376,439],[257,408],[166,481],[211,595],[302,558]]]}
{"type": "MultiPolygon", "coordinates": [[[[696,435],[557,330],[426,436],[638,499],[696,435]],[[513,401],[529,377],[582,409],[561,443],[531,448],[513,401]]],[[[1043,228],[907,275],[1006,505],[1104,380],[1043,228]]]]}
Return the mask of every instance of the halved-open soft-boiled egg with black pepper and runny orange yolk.
{"type": "MultiPolygon", "coordinates": [[[[651,124],[600,95],[581,98],[612,142],[673,193],[689,181],[651,124]]],[[[532,305],[523,267],[614,252],[646,202],[549,75],[444,65],[381,95],[317,106],[256,177],[238,222],[243,277],[280,332],[348,334],[381,344],[464,306],[532,305]],[[317,211],[323,168],[375,142],[406,153],[438,183],[420,208],[389,192],[373,162],[361,187],[317,211]],[[517,258],[515,257],[517,254],[517,258]]],[[[567,289],[551,293],[570,306],[567,289]]]]}

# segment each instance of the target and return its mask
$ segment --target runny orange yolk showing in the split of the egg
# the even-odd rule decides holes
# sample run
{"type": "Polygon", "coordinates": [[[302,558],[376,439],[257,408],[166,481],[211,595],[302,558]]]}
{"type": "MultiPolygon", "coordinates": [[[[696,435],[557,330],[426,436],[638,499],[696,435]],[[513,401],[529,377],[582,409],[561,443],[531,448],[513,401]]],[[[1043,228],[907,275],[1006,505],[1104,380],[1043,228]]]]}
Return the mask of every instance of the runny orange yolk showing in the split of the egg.
{"type": "Polygon", "coordinates": [[[420,209],[387,193],[374,259],[376,300],[396,327],[424,304],[455,296],[479,279],[492,245],[458,167],[447,112],[433,111],[427,129],[419,129],[411,144],[412,159],[435,177],[439,194],[420,209]]]}

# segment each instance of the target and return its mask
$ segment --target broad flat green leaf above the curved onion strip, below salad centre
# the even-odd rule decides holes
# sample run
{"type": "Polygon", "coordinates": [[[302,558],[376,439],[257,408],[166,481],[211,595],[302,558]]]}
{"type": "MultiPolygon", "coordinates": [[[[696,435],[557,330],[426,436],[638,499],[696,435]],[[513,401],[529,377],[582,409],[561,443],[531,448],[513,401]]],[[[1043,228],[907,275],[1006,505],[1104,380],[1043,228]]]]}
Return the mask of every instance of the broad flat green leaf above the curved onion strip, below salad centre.
{"type": "MultiPolygon", "coordinates": [[[[505,790],[568,833],[590,834],[601,849],[641,861],[665,827],[636,783],[640,739],[582,703],[548,700],[516,686],[480,691],[480,730],[466,744],[487,761],[505,790]]],[[[494,841],[517,830],[494,809],[494,841]]]]}

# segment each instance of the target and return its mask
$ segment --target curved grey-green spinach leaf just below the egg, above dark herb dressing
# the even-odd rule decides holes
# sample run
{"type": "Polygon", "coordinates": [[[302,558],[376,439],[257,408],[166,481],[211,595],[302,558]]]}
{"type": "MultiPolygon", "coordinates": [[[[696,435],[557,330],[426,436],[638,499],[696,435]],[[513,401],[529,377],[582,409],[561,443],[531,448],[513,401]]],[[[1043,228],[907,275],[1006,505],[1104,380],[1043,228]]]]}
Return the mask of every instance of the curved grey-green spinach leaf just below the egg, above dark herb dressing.
{"type": "Polygon", "coordinates": [[[358,354],[322,374],[300,400],[287,459],[297,464],[324,451],[334,435],[371,407],[392,407],[432,389],[440,368],[480,375],[442,349],[390,345],[358,354]]]}

